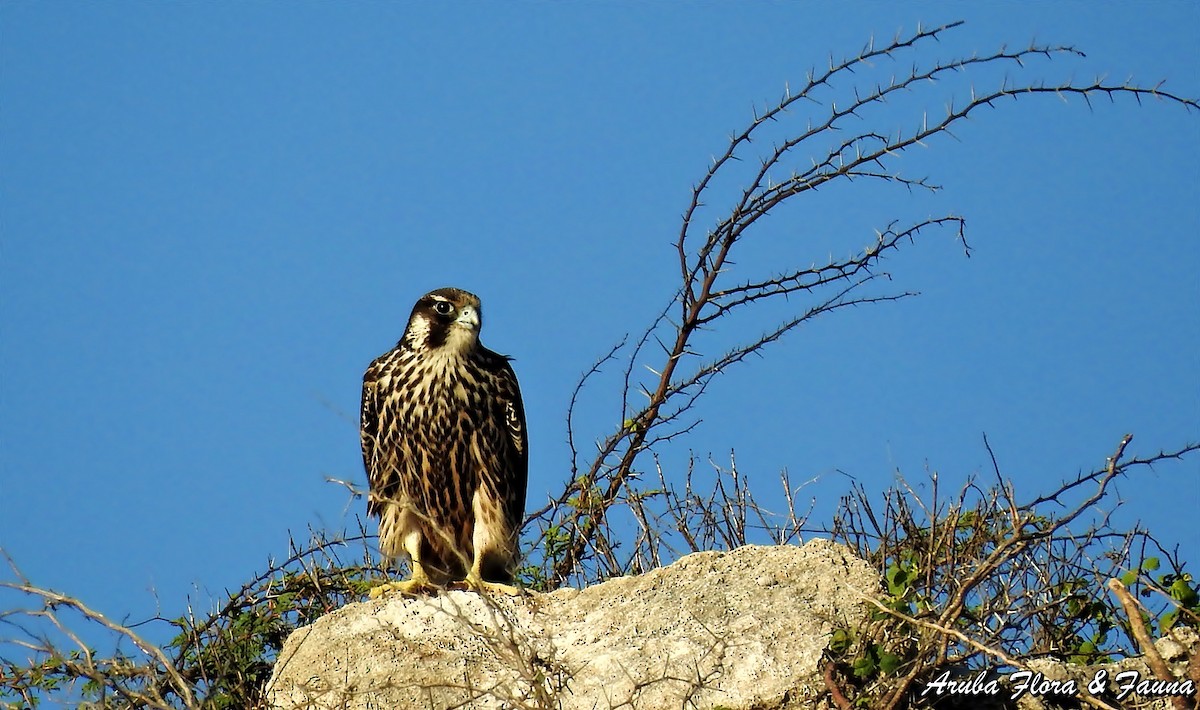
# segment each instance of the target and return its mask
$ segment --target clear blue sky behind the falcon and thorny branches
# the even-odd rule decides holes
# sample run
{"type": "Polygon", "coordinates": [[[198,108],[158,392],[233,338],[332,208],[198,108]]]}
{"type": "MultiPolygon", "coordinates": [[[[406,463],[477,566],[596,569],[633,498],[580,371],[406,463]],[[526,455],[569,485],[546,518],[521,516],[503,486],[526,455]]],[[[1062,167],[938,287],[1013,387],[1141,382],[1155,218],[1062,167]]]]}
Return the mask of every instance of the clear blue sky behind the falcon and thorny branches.
{"type": "MultiPolygon", "coordinates": [[[[361,504],[324,479],[364,480],[362,369],[451,284],[516,357],[536,506],[568,475],[576,379],[670,299],[679,216],[727,136],[830,53],[955,19],[877,71],[1037,38],[1087,58],[1010,77],[1200,95],[1182,2],[0,4],[0,547],[138,620],[205,608],[289,531],[353,527],[361,504]]],[[[911,130],[946,98],[871,120],[911,130]]],[[[847,475],[986,473],[984,433],[1022,498],[1126,432],[1139,455],[1196,439],[1198,121],[1007,102],[900,163],[936,195],[839,188],[780,212],[746,275],[944,212],[973,254],[949,234],[904,249],[886,266],[920,297],[731,371],[671,455],[733,450],[766,500],[781,469],[816,479],[800,497],[827,522],[847,475]]],[[[589,390],[584,440],[617,423],[613,385],[589,390]]],[[[1198,561],[1195,458],[1121,492],[1124,521],[1198,561]]]]}

